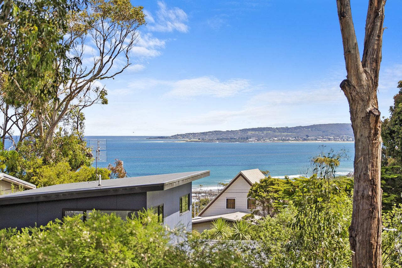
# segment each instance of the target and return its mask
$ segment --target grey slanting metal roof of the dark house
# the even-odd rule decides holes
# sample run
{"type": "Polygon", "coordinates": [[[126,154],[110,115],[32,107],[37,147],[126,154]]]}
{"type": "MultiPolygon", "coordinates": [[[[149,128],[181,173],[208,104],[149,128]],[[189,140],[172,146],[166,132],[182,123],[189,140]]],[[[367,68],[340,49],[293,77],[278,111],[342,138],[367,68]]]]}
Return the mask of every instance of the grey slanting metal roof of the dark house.
{"type": "Polygon", "coordinates": [[[102,186],[98,186],[96,181],[57,184],[23,192],[1,195],[0,205],[160,191],[180,186],[207,176],[209,176],[209,170],[121,179],[105,179],[102,180],[102,186]]]}

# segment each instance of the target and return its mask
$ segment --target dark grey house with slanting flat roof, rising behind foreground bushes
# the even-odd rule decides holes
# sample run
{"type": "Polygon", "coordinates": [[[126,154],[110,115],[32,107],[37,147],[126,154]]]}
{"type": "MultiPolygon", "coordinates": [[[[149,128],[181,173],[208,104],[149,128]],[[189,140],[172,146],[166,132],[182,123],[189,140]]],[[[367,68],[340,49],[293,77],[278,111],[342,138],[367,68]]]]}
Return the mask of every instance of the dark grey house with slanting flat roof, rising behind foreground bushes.
{"type": "Polygon", "coordinates": [[[0,229],[45,225],[67,215],[82,215],[96,209],[125,218],[152,208],[158,219],[174,228],[191,231],[191,182],[209,176],[209,171],[107,179],[57,184],[0,196],[0,229]]]}

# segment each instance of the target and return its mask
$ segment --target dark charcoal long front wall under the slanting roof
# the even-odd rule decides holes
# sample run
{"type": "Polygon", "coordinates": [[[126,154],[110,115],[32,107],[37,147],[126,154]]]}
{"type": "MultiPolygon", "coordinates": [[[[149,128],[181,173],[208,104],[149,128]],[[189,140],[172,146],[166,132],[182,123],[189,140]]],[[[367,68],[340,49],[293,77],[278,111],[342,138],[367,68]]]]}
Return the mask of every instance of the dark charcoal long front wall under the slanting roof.
{"type": "Polygon", "coordinates": [[[146,207],[146,193],[72,198],[46,202],[31,202],[0,206],[0,229],[33,227],[62,219],[63,209],[123,209],[146,207]]]}

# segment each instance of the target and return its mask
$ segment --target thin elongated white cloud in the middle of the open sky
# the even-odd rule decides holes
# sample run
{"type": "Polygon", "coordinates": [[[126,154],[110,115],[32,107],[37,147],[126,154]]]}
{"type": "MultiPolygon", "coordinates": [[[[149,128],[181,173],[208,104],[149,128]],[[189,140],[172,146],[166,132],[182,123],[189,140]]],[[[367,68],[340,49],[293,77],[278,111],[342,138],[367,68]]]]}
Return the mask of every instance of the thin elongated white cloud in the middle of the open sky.
{"type": "Polygon", "coordinates": [[[230,97],[251,89],[248,80],[230,79],[219,81],[213,76],[178,80],[172,82],[170,86],[172,90],[167,95],[175,97],[230,97]]]}

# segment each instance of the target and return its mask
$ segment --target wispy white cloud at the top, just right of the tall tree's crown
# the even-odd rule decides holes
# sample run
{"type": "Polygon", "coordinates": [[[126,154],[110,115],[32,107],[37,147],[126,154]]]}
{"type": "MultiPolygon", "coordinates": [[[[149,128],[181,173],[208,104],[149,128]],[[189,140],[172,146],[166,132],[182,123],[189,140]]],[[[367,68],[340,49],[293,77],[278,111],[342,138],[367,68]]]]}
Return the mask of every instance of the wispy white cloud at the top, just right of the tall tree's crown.
{"type": "Polygon", "coordinates": [[[187,33],[189,26],[186,24],[188,21],[186,12],[181,8],[168,8],[162,1],[158,1],[159,10],[156,11],[156,19],[152,14],[147,11],[148,22],[150,23],[147,28],[150,31],[157,32],[172,32],[179,31],[187,33]]]}

